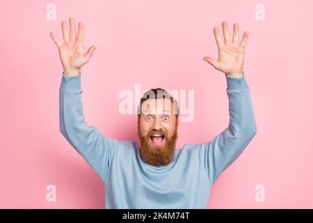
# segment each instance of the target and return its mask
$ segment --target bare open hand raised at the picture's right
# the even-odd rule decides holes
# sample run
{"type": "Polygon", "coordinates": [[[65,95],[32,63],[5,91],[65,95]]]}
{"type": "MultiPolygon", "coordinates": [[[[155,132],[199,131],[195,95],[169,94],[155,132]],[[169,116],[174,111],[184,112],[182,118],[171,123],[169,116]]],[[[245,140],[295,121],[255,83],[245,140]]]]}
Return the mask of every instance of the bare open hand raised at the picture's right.
{"type": "Polygon", "coordinates": [[[234,35],[232,43],[230,40],[230,33],[228,32],[227,22],[222,22],[223,34],[225,43],[220,38],[218,27],[214,27],[214,36],[218,46],[218,60],[214,60],[209,56],[203,59],[214,66],[216,70],[224,72],[225,75],[232,75],[234,77],[241,77],[243,73],[243,62],[245,47],[248,40],[248,31],[243,33],[243,38],[239,44],[239,24],[234,24],[234,35]]]}

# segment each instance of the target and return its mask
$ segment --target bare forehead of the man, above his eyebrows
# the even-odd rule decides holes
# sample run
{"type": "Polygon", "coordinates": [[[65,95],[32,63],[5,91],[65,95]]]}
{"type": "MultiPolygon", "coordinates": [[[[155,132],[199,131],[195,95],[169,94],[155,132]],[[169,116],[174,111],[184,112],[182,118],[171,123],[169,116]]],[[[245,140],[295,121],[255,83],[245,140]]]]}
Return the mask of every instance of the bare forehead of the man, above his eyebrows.
{"type": "Polygon", "coordinates": [[[141,105],[143,114],[174,114],[170,98],[148,99],[141,105]]]}

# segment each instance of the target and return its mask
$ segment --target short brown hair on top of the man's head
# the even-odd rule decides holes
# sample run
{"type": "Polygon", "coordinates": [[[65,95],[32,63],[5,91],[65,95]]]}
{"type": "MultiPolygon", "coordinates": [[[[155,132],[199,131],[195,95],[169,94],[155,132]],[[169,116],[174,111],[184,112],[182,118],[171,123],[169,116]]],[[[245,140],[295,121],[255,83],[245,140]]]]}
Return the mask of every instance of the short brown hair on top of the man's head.
{"type": "Polygon", "coordinates": [[[141,102],[139,103],[138,107],[137,107],[137,114],[138,114],[138,117],[141,115],[141,106],[143,105],[143,103],[146,101],[146,100],[149,100],[149,99],[159,99],[159,98],[168,98],[170,99],[170,101],[172,102],[172,105],[174,105],[174,113],[175,113],[175,116],[176,118],[178,118],[179,116],[179,107],[178,107],[178,103],[177,103],[177,100],[172,96],[170,95],[170,93],[168,93],[168,91],[166,91],[165,89],[150,89],[149,91],[146,91],[144,94],[143,94],[143,97],[141,97],[141,102]]]}

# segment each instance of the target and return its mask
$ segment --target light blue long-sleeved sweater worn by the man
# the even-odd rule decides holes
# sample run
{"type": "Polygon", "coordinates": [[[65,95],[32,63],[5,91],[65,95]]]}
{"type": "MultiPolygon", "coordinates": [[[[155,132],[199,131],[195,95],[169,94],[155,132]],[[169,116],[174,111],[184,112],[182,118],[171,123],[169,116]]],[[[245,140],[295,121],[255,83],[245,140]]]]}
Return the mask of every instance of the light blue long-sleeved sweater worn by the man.
{"type": "Polygon", "coordinates": [[[135,141],[109,139],[83,116],[81,75],[63,73],[60,130],[102,178],[106,208],[207,208],[211,187],[257,132],[250,89],[226,77],[230,123],[211,141],[175,148],[167,166],[141,160],[135,141]]]}

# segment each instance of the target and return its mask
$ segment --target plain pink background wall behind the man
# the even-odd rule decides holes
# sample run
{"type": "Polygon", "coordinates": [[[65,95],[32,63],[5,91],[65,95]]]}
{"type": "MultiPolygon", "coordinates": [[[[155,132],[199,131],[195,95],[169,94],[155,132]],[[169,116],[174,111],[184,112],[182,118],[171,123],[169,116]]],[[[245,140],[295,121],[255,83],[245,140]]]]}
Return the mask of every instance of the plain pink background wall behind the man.
{"type": "MultiPolygon", "coordinates": [[[[239,23],[250,36],[245,73],[257,135],[216,181],[208,208],[313,208],[312,1],[2,1],[0,7],[0,208],[103,208],[104,185],[58,125],[62,66],[49,33],[85,24],[97,49],[83,72],[86,121],[106,136],[138,141],[136,115],[121,115],[123,89],[193,89],[195,118],[177,146],[227,128],[214,26],[239,23]],[[46,20],[48,3],[56,21],[46,20]],[[264,3],[265,20],[255,20],[264,3]],[[46,200],[56,185],[56,202],[46,200]],[[264,185],[265,201],[255,201],[264,185]]],[[[232,33],[232,30],[231,30],[232,33]]]]}

